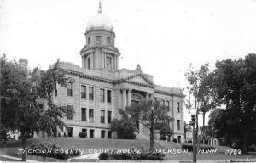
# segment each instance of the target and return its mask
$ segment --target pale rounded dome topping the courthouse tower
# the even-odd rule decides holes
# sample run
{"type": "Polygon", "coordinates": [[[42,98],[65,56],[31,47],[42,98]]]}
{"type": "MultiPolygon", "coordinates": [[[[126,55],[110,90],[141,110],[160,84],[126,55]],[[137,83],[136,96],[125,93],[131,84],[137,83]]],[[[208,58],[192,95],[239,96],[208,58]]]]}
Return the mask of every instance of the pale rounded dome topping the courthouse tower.
{"type": "Polygon", "coordinates": [[[107,15],[102,14],[102,12],[98,12],[87,23],[86,31],[93,29],[113,31],[113,25],[107,15]]]}

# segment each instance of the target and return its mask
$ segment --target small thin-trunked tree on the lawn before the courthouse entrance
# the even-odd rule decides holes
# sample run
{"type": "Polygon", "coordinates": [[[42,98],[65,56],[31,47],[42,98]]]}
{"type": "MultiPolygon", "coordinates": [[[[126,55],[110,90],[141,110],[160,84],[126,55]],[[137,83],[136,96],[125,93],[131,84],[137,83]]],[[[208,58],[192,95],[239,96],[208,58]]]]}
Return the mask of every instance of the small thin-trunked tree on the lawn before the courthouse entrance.
{"type": "Polygon", "coordinates": [[[126,112],[134,121],[143,124],[150,131],[150,149],[154,149],[154,126],[157,121],[173,121],[167,115],[168,108],[160,104],[160,101],[143,100],[138,104],[126,107],[126,112]]]}

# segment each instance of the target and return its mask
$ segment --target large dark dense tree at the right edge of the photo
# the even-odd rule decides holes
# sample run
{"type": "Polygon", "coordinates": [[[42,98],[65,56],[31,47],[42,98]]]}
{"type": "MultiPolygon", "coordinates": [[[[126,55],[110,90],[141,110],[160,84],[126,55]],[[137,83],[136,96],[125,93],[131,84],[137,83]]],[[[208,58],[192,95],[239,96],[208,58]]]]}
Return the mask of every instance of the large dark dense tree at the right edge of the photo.
{"type": "Polygon", "coordinates": [[[218,137],[239,140],[243,153],[256,132],[256,54],[244,59],[217,61],[213,71],[214,91],[226,109],[215,121],[218,137]]]}

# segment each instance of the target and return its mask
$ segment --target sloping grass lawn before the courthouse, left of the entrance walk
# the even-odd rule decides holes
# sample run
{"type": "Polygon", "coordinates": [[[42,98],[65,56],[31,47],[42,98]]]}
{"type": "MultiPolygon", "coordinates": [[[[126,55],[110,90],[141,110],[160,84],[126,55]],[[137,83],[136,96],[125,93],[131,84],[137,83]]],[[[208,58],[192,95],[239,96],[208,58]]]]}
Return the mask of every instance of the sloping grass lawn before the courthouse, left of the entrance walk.
{"type": "MultiPolygon", "coordinates": [[[[89,154],[90,150],[100,150],[100,149],[131,149],[138,147],[148,147],[148,140],[124,140],[124,139],[102,139],[102,138],[29,138],[26,139],[26,148],[28,148],[32,143],[38,142],[52,142],[61,145],[62,149],[83,149],[83,155],[89,154]]],[[[163,149],[157,143],[154,143],[154,147],[157,149],[163,149]]],[[[17,153],[18,149],[21,148],[21,141],[9,141],[1,149],[0,153],[4,155],[11,155],[20,157],[17,153]]]]}

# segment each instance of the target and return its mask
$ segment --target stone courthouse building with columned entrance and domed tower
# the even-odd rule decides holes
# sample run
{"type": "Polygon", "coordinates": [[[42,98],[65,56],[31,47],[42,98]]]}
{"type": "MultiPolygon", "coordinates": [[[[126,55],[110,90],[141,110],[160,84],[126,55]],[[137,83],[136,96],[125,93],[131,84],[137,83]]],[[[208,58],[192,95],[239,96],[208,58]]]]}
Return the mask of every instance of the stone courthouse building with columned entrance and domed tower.
{"type": "MultiPolygon", "coordinates": [[[[119,69],[121,54],[115,47],[115,37],[100,4],[87,24],[86,43],[80,51],[82,67],[61,62],[61,69],[71,81],[67,87],[57,86],[55,102],[75,110],[65,119],[67,136],[79,137],[79,132],[87,132],[88,138],[112,138],[109,125],[119,117],[119,109],[143,99],[158,99],[170,108],[168,114],[174,118],[170,123],[172,138],[183,142],[183,90],[156,85],[153,76],[143,73],[140,65],[135,70],[119,69]]],[[[148,132],[143,131],[140,125],[138,135],[147,136],[148,132]]]]}

